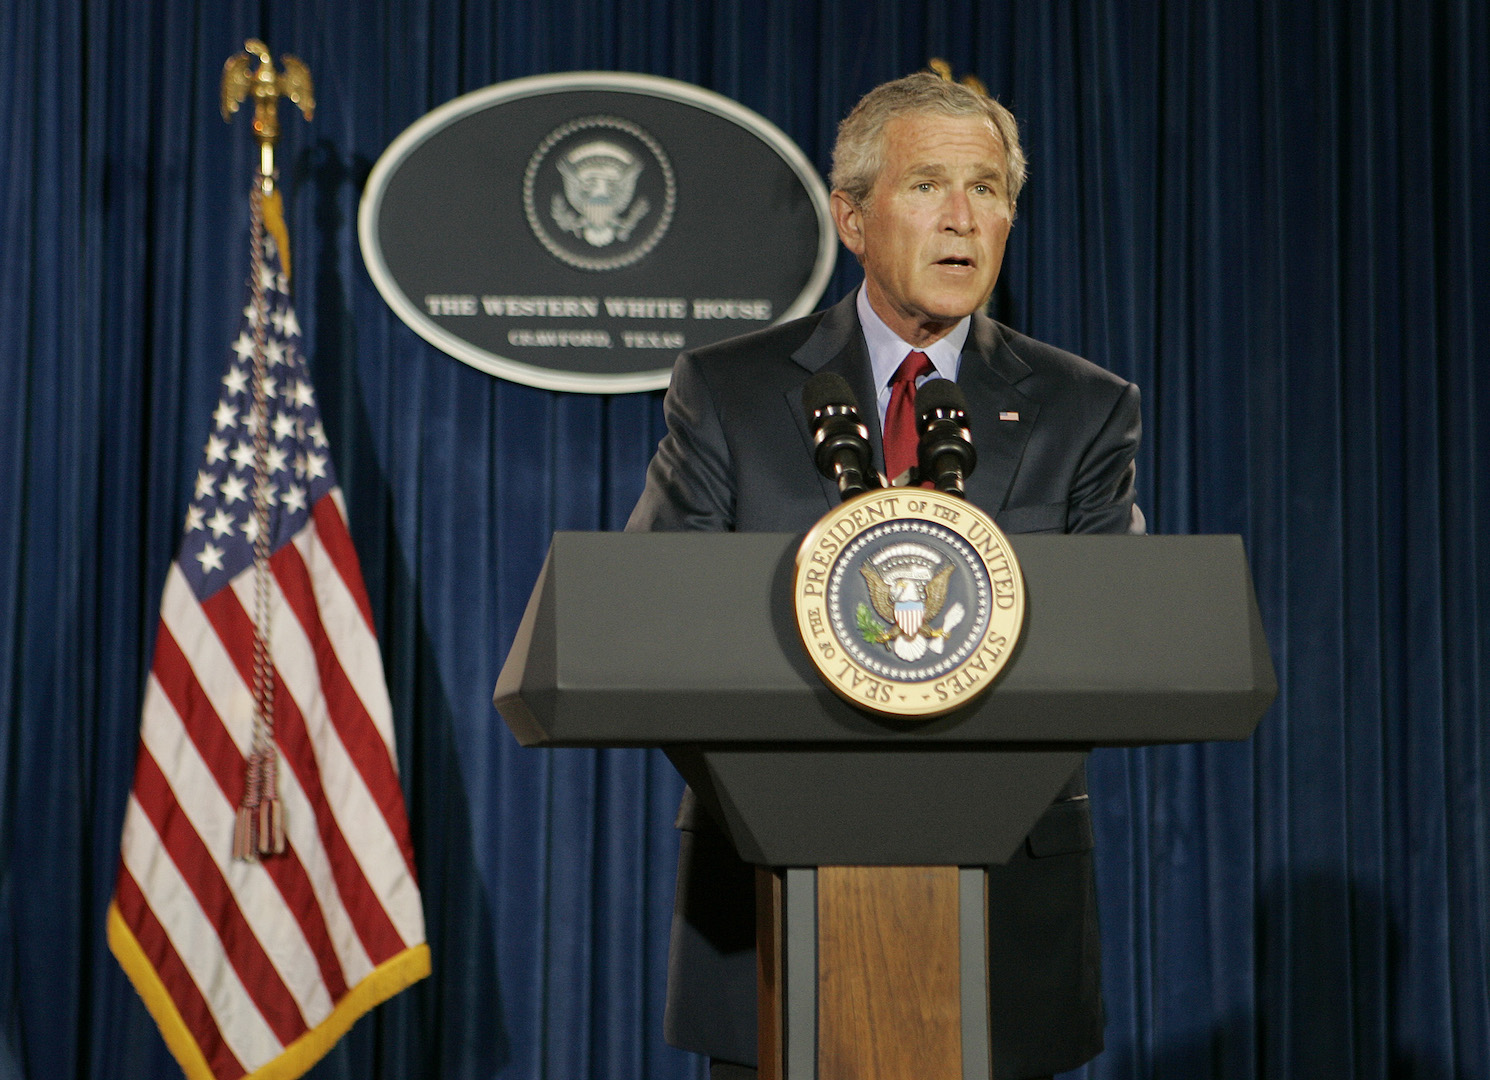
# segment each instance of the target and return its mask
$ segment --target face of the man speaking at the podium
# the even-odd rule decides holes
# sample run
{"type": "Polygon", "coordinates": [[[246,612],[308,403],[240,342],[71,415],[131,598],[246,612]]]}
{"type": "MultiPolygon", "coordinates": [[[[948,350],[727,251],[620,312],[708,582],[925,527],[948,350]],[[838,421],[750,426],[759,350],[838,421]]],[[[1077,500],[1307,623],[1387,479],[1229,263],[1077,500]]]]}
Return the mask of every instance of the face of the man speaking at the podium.
{"type": "Polygon", "coordinates": [[[833,192],[833,220],[864,265],[879,317],[910,344],[930,344],[998,280],[1012,222],[1004,147],[974,116],[897,116],[882,137],[869,198],[855,206],[833,192]]]}

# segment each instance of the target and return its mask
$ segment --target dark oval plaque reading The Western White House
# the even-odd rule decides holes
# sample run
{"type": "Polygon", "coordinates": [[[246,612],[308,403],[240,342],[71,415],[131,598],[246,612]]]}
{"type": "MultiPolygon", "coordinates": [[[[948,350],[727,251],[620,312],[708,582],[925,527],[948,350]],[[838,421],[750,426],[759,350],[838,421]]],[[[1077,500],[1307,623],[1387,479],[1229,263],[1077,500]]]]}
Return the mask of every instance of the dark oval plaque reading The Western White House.
{"type": "Polygon", "coordinates": [[[808,314],[837,253],[827,189],[763,116],[673,79],[574,72],[414,122],[358,215],[378,292],[502,378],[626,393],[672,360],[808,314]]]}

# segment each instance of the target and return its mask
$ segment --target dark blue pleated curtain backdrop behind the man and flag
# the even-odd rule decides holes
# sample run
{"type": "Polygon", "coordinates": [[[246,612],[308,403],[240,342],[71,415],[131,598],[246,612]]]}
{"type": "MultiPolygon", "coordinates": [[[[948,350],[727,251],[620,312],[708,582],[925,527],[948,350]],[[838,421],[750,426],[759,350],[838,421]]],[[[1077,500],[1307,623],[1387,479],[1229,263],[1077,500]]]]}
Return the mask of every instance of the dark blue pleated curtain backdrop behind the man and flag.
{"type": "MultiPolygon", "coordinates": [[[[660,395],[502,383],[374,290],[356,206],[451,97],[614,69],[827,170],[945,57],[1021,118],[1001,319],[1144,390],[1156,532],[1240,532],[1283,685],[1101,752],[1083,1076],[1490,1077],[1483,0],[15,0],[0,6],[0,1077],[173,1070],[104,943],[161,584],[246,271],[224,60],[304,58],[295,289],[383,641],[435,974],[317,1077],[699,1076],[660,1041],[679,784],[535,752],[492,685],[554,529],[617,529],[660,395]]],[[[827,299],[857,280],[851,261],[827,299]]]]}

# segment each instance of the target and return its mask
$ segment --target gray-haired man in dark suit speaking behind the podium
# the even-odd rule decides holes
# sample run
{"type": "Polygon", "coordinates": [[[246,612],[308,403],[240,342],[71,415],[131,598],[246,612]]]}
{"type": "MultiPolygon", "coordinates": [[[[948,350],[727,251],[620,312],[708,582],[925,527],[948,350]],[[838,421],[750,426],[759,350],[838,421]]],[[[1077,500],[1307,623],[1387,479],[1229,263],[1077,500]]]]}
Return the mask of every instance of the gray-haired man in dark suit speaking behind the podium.
{"type": "MultiPolygon", "coordinates": [[[[1138,393],[992,322],[1025,162],[1013,116],[934,74],[876,88],[839,128],[833,220],[864,267],[837,305],[678,358],[668,433],[627,529],[803,532],[839,502],[814,466],[802,387],[854,387],[875,463],[913,460],[915,387],[957,380],[977,469],[967,498],[1006,532],[1143,532],[1134,505],[1138,393]]],[[[754,879],[684,795],[668,1041],[717,1080],[755,1061],[754,879]]],[[[1074,1068],[1101,1050],[1092,825],[1085,769],[1021,851],[989,867],[991,1049],[998,1080],[1074,1068]]]]}

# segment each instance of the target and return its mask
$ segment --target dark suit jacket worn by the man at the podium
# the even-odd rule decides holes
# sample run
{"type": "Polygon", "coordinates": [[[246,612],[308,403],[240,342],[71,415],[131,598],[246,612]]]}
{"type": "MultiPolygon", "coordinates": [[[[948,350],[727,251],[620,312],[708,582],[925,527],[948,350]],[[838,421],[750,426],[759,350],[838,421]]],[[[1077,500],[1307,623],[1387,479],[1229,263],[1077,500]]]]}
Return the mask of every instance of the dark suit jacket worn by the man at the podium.
{"type": "MultiPolygon", "coordinates": [[[[854,296],[827,311],[684,353],[630,530],[805,532],[837,505],[812,456],[802,387],[848,380],[884,466],[854,296]]],[[[1138,392],[1059,349],[973,316],[958,386],[977,468],[967,498],[1006,532],[1143,532],[1134,505],[1138,392]],[[1006,419],[1000,419],[1006,417],[1006,419]]],[[[668,1041],[755,1061],[754,876],[684,795],[668,979],[668,1041]]],[[[1085,769],[989,868],[994,1076],[1074,1068],[1103,1046],[1092,825],[1085,769]]]]}

